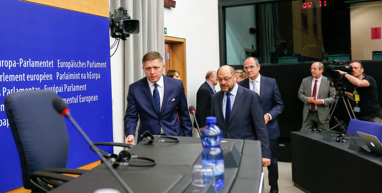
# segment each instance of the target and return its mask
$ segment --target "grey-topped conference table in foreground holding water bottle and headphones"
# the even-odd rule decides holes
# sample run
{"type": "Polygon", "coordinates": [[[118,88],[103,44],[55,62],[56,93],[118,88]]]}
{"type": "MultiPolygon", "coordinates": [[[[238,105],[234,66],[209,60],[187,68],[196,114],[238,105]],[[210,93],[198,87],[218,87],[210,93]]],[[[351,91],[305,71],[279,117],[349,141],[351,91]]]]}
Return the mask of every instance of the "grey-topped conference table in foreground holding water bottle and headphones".
{"type": "MultiPolygon", "coordinates": [[[[191,185],[192,170],[201,164],[203,147],[200,138],[176,137],[179,143],[147,144],[140,142],[128,151],[138,157],[155,160],[153,167],[118,167],[117,173],[133,192],[180,193],[195,192],[191,185]]],[[[223,139],[225,155],[224,189],[219,193],[257,193],[262,187],[261,147],[259,141],[223,139]]],[[[138,164],[139,160],[129,163],[138,164]]],[[[52,193],[93,193],[112,188],[124,192],[104,164],[54,189],[52,193]]],[[[205,191],[206,192],[206,191],[205,191]]]]}

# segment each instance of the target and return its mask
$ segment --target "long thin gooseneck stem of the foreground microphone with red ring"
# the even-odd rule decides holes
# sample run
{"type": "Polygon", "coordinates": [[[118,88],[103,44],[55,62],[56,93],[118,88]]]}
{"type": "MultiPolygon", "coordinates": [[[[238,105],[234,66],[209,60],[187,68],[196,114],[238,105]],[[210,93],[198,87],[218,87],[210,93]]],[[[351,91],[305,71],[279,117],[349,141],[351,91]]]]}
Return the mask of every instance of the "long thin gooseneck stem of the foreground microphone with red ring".
{"type": "Polygon", "coordinates": [[[78,130],[78,132],[81,133],[82,137],[85,138],[86,142],[90,145],[90,147],[93,148],[93,150],[97,153],[97,155],[101,158],[102,162],[108,167],[112,175],[118,180],[118,182],[122,185],[124,190],[127,193],[133,193],[133,191],[127,186],[127,184],[122,180],[121,176],[118,175],[118,173],[113,169],[113,167],[110,165],[110,163],[104,158],[104,156],[99,152],[99,149],[93,144],[93,142],[89,139],[89,137],[86,135],[86,133],[81,129],[81,127],[77,124],[77,122],[73,119],[73,117],[70,115],[70,112],[67,112],[65,116],[72,122],[74,127],[78,130]]]}

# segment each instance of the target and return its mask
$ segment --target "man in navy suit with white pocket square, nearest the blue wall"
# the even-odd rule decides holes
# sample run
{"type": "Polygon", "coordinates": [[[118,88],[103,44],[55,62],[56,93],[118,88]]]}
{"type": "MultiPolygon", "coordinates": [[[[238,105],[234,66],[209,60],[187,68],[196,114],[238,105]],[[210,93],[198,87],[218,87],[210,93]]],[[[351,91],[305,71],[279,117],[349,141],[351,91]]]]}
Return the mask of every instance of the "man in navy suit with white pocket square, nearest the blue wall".
{"type": "Polygon", "coordinates": [[[163,59],[156,51],[146,53],[142,64],[146,77],[128,86],[125,143],[134,144],[138,118],[138,141],[145,131],[153,135],[192,136],[183,82],[162,75],[163,59]]]}

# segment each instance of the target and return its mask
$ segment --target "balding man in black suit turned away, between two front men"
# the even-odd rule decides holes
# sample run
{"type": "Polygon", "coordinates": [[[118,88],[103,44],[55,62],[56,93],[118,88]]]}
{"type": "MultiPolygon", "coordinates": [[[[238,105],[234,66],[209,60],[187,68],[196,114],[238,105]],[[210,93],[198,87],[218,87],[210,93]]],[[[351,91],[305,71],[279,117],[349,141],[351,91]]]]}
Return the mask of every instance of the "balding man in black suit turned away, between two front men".
{"type": "Polygon", "coordinates": [[[217,78],[215,71],[208,71],[206,81],[199,87],[196,93],[196,120],[199,127],[204,127],[206,125],[206,117],[211,116],[211,96],[216,93],[215,85],[218,84],[217,78]]]}

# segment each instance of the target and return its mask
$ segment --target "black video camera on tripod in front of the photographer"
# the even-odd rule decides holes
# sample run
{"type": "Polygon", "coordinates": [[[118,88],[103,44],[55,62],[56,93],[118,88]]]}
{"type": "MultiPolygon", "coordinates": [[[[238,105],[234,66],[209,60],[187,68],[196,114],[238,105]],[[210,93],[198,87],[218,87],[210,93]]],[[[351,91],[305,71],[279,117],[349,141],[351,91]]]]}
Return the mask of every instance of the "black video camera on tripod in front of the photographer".
{"type": "Polygon", "coordinates": [[[352,73],[353,67],[349,65],[348,61],[340,61],[339,59],[333,60],[331,64],[325,67],[325,71],[328,75],[328,80],[331,81],[330,86],[336,89],[337,95],[343,96],[345,94],[344,83],[348,81],[348,79],[341,77],[340,72],[336,70],[352,73]]]}

